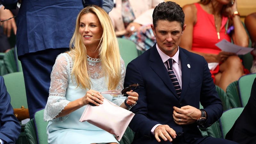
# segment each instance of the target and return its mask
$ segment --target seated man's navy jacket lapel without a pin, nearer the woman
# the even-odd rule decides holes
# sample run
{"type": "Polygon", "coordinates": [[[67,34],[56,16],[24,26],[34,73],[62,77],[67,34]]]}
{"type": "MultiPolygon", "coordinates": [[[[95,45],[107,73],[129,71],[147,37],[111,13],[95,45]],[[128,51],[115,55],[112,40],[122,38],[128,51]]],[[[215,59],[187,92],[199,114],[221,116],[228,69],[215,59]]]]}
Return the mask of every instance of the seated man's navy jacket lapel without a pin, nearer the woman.
{"type": "Polygon", "coordinates": [[[151,49],[152,50],[150,51],[149,57],[150,67],[156,72],[156,75],[158,75],[162,79],[166,86],[171,90],[173,95],[175,95],[176,98],[179,99],[178,94],[172,84],[172,80],[168,75],[167,69],[165,68],[164,63],[156,50],[156,44],[151,49]]]}

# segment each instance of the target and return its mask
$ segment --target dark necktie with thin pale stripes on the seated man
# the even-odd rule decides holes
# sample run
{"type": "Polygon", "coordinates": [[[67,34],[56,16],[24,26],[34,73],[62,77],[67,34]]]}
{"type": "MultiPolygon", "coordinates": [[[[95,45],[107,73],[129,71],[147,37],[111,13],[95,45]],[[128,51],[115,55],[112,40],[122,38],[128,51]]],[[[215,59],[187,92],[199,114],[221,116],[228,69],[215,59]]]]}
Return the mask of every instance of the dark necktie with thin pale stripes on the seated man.
{"type": "Polygon", "coordinates": [[[167,63],[167,70],[168,70],[168,74],[172,80],[172,84],[178,94],[178,96],[180,97],[180,94],[181,94],[181,88],[180,88],[180,84],[179,84],[179,81],[176,77],[176,75],[174,74],[174,71],[172,69],[172,63],[173,63],[173,60],[172,59],[169,59],[166,61],[167,63]]]}

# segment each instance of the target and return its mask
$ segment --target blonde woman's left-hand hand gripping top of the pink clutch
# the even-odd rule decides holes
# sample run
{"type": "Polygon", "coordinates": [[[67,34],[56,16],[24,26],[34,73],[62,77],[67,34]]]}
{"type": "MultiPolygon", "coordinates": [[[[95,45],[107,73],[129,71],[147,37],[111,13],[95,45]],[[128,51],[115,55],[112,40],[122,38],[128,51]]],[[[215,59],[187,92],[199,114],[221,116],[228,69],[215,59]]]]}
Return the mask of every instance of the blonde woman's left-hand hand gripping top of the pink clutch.
{"type": "Polygon", "coordinates": [[[82,100],[84,105],[92,103],[96,106],[99,106],[103,103],[103,99],[104,97],[100,94],[100,92],[97,92],[95,90],[89,90],[86,92],[82,100]]]}

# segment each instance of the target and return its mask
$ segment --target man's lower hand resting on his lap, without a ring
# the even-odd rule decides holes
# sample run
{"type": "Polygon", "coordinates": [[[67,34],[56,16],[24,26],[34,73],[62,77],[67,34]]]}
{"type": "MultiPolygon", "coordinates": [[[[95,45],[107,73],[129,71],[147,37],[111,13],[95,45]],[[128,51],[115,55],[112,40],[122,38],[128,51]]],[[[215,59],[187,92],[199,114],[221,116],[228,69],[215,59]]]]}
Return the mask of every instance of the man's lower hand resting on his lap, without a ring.
{"type": "Polygon", "coordinates": [[[170,142],[172,142],[172,138],[175,139],[176,136],[177,136],[176,132],[172,128],[170,128],[169,125],[159,125],[159,126],[157,126],[154,133],[155,133],[155,138],[158,142],[161,141],[159,136],[164,141],[169,140],[170,142]]]}

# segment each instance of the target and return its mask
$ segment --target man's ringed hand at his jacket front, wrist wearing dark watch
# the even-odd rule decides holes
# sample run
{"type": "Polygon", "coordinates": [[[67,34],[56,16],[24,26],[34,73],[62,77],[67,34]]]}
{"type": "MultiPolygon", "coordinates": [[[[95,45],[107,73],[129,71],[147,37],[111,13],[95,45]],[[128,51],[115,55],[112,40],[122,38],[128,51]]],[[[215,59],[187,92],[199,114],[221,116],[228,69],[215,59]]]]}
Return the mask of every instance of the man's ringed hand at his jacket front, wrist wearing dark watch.
{"type": "Polygon", "coordinates": [[[200,109],[192,106],[173,107],[173,119],[178,125],[193,124],[201,117],[200,109]]]}

